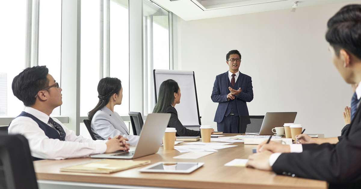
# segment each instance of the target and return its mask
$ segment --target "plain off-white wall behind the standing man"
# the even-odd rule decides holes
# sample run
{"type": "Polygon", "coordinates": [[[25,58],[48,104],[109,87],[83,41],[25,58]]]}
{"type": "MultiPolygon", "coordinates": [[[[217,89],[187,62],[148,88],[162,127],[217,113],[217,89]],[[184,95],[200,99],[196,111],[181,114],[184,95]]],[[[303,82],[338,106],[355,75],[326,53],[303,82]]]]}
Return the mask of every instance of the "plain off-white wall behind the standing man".
{"type": "Polygon", "coordinates": [[[213,83],[229,68],[226,53],[237,49],[240,71],[252,77],[250,115],[296,111],[295,123],[305,133],[339,136],[353,92],[332,64],[325,32],[327,20],[351,3],[361,1],[193,21],[178,17],[174,69],[195,72],[202,125],[217,128],[213,83]]]}

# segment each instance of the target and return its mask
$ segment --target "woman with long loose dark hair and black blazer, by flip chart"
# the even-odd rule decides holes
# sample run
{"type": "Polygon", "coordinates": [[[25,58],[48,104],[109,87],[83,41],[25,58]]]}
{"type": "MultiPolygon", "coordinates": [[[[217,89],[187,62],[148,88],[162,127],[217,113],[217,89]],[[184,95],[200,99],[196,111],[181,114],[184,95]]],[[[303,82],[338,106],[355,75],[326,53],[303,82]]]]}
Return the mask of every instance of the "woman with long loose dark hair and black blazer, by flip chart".
{"type": "MultiPolygon", "coordinates": [[[[163,81],[159,87],[158,102],[153,113],[170,113],[168,127],[177,129],[177,136],[200,136],[201,132],[185,128],[178,119],[175,104],[181,102],[181,89],[174,80],[163,81]]],[[[212,129],[212,133],[214,130],[212,129]]]]}

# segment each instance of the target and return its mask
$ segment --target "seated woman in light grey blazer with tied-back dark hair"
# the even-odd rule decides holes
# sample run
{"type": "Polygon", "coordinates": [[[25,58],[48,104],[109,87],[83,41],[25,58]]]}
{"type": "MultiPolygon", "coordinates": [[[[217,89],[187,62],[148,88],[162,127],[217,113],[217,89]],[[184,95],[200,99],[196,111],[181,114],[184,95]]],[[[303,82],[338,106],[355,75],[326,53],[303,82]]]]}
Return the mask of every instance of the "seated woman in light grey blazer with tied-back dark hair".
{"type": "Polygon", "coordinates": [[[122,104],[122,82],[118,78],[103,78],[98,83],[98,94],[98,104],[88,113],[95,138],[106,140],[122,135],[129,139],[130,145],[136,145],[139,136],[130,135],[122,117],[114,112],[114,106],[122,104]]]}

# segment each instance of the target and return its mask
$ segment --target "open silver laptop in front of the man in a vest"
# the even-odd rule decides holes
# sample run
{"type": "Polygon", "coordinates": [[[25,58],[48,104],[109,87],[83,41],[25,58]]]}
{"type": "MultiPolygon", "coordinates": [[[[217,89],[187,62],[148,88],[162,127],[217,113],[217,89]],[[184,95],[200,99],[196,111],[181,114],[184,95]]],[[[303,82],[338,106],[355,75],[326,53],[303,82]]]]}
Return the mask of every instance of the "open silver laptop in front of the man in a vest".
{"type": "Polygon", "coordinates": [[[140,132],[135,150],[117,151],[109,154],[91,155],[91,158],[135,159],[158,152],[165,128],[168,126],[170,113],[149,113],[140,132]]]}

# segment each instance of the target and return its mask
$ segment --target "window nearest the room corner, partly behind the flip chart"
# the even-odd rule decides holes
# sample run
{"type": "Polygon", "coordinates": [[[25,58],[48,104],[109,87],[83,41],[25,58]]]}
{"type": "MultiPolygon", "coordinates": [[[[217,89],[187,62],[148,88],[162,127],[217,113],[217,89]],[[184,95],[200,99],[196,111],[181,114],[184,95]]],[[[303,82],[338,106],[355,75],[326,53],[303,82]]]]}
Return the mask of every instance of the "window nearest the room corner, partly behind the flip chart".
{"type": "Polygon", "coordinates": [[[153,112],[155,94],[153,69],[169,67],[169,12],[143,0],[144,114],[153,112]]]}

